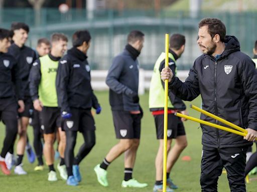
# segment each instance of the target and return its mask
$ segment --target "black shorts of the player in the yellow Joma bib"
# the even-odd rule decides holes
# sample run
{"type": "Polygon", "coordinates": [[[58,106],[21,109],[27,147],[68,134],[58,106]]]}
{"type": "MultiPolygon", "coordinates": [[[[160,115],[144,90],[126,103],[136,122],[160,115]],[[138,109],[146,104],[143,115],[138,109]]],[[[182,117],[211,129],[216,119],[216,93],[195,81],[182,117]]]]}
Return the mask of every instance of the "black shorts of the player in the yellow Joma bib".
{"type": "Polygon", "coordinates": [[[44,106],[40,112],[41,128],[44,134],[56,132],[61,127],[61,110],[59,107],[44,106]]]}

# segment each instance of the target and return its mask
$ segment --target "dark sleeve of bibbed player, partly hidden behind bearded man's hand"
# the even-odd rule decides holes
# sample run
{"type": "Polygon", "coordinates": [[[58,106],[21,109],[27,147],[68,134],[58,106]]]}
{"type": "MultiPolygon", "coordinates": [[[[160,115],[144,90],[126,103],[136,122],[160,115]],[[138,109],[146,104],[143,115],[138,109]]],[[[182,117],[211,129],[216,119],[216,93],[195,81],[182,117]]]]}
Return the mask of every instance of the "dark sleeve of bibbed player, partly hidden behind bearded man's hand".
{"type": "MultiPolygon", "coordinates": [[[[176,65],[175,65],[175,62],[174,60],[172,60],[171,58],[169,58],[169,67],[170,69],[172,70],[173,74],[175,74],[175,70],[176,70],[176,65]]],[[[162,69],[165,67],[165,60],[163,60],[160,64],[160,72],[162,71],[162,69]]],[[[163,85],[163,88],[165,88],[165,85],[164,85],[164,81],[162,80],[162,85],[163,85]]],[[[181,100],[179,97],[175,96],[174,93],[172,93],[171,89],[168,90],[168,95],[169,95],[169,98],[170,98],[170,101],[171,103],[173,104],[174,108],[175,109],[178,109],[178,110],[185,110],[186,109],[186,105],[185,103],[183,102],[183,100],[181,100]]]]}

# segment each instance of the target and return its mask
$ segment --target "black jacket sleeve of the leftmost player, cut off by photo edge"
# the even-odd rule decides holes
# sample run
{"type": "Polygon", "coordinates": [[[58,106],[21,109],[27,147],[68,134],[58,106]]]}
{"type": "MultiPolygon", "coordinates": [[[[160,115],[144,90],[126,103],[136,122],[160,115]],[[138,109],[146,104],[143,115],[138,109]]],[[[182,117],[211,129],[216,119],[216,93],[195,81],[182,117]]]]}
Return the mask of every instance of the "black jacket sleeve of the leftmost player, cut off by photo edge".
{"type": "Polygon", "coordinates": [[[14,85],[15,85],[15,93],[18,100],[23,100],[24,91],[22,88],[21,72],[20,72],[20,67],[18,63],[16,62],[16,59],[15,59],[14,67],[12,68],[12,81],[14,82],[14,85]]]}

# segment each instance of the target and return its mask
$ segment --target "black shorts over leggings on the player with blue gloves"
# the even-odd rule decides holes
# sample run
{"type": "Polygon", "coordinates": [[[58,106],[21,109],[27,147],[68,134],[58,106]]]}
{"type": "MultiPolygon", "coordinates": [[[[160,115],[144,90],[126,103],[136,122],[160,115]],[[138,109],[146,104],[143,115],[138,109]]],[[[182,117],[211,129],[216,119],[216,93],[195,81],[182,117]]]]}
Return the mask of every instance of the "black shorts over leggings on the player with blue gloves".
{"type": "Polygon", "coordinates": [[[95,130],[91,109],[71,108],[71,118],[62,119],[62,129],[65,131],[95,130]]]}

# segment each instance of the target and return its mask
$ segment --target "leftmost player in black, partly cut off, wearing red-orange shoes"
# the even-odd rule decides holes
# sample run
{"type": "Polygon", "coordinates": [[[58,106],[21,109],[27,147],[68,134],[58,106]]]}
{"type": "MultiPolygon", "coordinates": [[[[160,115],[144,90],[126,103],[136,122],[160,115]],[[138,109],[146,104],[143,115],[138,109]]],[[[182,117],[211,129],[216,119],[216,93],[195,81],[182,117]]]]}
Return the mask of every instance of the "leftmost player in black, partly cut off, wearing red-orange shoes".
{"type": "Polygon", "coordinates": [[[5,156],[15,142],[18,132],[18,111],[23,112],[23,91],[19,66],[16,59],[8,54],[10,31],[0,28],[0,120],[6,124],[6,136],[0,154],[0,167],[4,174],[10,174],[5,156]],[[18,105],[20,108],[17,111],[18,105]]]}

